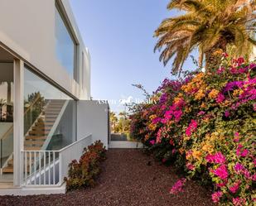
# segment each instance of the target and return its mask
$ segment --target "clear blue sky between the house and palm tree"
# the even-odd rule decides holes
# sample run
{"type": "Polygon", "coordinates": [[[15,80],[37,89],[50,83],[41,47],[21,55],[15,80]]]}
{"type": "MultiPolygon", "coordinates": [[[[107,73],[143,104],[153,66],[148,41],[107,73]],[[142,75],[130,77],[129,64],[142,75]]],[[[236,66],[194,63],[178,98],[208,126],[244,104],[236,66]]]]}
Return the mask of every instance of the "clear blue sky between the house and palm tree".
{"type": "MultiPolygon", "coordinates": [[[[91,55],[91,95],[94,99],[118,101],[142,97],[131,84],[142,84],[148,92],[171,78],[171,64],[163,67],[153,32],[164,18],[167,0],[70,0],[80,33],[91,55]]],[[[194,68],[191,60],[184,66],[194,68]]],[[[110,103],[115,112],[123,106],[110,103]]]]}

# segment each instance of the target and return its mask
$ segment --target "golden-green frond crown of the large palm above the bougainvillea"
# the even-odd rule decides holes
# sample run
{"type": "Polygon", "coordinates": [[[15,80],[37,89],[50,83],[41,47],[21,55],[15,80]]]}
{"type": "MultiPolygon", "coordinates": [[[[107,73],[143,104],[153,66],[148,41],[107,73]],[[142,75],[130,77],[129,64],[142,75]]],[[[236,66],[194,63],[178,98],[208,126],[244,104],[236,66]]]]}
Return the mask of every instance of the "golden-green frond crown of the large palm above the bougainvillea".
{"type": "Polygon", "coordinates": [[[155,50],[162,50],[164,65],[175,56],[172,72],[181,72],[192,50],[199,50],[200,67],[220,65],[216,54],[235,46],[237,55],[245,55],[255,41],[255,2],[242,0],[171,0],[167,8],[179,9],[182,15],[164,20],[155,31],[155,50]]]}

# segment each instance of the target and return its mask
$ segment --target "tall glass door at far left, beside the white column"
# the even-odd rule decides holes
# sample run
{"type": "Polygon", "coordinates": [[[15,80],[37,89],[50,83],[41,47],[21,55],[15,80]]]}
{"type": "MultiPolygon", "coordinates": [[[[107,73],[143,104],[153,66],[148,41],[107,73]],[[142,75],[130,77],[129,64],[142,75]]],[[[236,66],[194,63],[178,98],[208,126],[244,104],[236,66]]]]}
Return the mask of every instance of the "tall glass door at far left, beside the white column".
{"type": "Polygon", "coordinates": [[[0,63],[0,183],[13,180],[13,63],[0,63]]]}

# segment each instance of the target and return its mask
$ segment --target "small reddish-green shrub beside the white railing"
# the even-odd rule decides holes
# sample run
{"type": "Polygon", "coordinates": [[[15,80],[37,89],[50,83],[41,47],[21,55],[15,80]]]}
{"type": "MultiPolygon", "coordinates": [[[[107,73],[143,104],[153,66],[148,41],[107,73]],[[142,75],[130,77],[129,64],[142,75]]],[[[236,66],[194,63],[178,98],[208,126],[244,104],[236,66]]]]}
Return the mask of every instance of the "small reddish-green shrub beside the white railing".
{"type": "Polygon", "coordinates": [[[80,160],[72,160],[69,165],[69,176],[65,177],[67,189],[93,187],[100,173],[100,162],[106,159],[106,149],[101,141],[85,148],[80,160]]]}

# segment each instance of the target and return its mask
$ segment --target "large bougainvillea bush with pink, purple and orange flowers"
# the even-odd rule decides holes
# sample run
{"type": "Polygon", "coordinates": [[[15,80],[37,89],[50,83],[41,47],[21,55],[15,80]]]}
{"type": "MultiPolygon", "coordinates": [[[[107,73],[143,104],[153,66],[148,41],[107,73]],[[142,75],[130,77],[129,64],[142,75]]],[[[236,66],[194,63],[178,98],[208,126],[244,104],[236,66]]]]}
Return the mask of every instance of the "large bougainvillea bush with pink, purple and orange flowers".
{"type": "Polygon", "coordinates": [[[133,107],[132,136],[212,185],[215,203],[255,204],[256,65],[224,54],[219,69],[165,79],[151,98],[133,107]]]}

